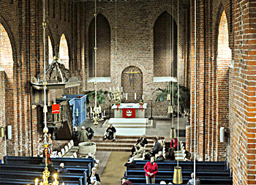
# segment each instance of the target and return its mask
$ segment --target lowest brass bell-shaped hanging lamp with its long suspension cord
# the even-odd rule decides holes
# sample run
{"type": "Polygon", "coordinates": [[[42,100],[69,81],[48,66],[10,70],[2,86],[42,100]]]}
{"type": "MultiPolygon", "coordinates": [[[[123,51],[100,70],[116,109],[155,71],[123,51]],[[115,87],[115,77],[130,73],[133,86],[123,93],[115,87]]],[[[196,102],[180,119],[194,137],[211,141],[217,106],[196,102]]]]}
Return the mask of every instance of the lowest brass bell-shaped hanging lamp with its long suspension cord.
{"type": "MultiPolygon", "coordinates": [[[[178,6],[177,6],[178,7],[178,6]]],[[[178,32],[178,23],[177,23],[177,32],[178,32]]],[[[178,37],[178,33],[177,33],[177,37],[178,37]]],[[[178,43],[178,38],[177,38],[177,43],[178,43]]],[[[178,52],[177,52],[177,90],[178,89],[178,52]]],[[[179,95],[179,91],[177,92],[177,94],[179,95]]],[[[177,97],[177,102],[179,104],[178,101],[178,97],[177,97]]],[[[178,105],[178,110],[179,110],[179,105],[178,105]]],[[[178,121],[178,120],[177,120],[178,121]]],[[[179,140],[178,140],[179,143],[179,140]]],[[[178,148],[178,145],[177,145],[178,148]]],[[[179,154],[179,151],[178,151],[179,154]]],[[[177,166],[174,167],[174,173],[173,173],[173,183],[174,184],[182,184],[183,180],[182,180],[182,173],[181,173],[181,167],[178,166],[178,160],[177,160],[177,166]]]]}

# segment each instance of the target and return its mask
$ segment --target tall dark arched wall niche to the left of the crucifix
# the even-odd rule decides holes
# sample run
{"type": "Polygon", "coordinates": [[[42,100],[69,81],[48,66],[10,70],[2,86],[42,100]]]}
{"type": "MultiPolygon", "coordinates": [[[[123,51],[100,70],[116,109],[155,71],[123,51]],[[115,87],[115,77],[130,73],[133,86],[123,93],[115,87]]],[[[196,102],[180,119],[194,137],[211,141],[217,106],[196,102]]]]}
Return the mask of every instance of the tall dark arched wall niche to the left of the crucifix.
{"type": "MultiPolygon", "coordinates": [[[[89,24],[89,40],[88,40],[88,53],[89,53],[89,77],[95,76],[95,19],[91,20],[89,24]]],[[[104,15],[97,15],[97,77],[110,77],[110,24],[104,15]],[[99,68],[100,67],[100,68],[99,68]]]]}

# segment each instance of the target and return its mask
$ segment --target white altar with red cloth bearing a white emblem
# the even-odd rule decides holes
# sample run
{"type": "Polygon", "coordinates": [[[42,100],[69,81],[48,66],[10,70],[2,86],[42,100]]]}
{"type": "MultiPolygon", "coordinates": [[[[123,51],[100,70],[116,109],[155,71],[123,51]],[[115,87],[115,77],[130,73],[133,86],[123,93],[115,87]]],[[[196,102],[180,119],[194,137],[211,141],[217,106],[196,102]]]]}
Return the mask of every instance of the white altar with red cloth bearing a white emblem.
{"type": "Polygon", "coordinates": [[[113,105],[115,118],[145,118],[145,109],[147,104],[121,103],[120,106],[113,105]]]}

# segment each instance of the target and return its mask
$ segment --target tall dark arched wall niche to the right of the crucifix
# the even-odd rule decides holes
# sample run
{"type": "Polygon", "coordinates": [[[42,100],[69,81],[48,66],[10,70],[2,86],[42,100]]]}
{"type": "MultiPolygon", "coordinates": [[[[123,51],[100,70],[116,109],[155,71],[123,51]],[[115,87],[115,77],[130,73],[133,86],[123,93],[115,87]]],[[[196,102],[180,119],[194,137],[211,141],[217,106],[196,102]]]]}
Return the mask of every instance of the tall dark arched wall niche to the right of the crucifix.
{"type": "Polygon", "coordinates": [[[154,23],[154,77],[168,76],[177,77],[177,25],[165,11],[154,23]]]}

